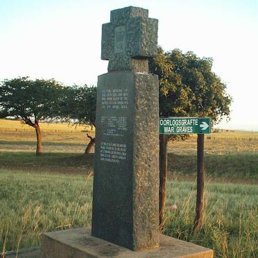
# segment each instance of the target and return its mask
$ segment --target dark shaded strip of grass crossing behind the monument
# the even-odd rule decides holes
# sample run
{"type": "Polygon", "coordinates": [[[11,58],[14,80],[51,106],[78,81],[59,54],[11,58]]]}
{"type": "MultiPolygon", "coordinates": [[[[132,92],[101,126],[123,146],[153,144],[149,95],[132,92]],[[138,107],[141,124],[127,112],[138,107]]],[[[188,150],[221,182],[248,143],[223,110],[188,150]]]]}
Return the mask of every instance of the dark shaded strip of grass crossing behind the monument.
{"type": "MultiPolygon", "coordinates": [[[[48,171],[93,171],[94,154],[80,153],[0,153],[0,166],[48,171]]],[[[196,176],[196,155],[168,155],[168,173],[196,176]]],[[[205,155],[207,177],[253,178],[258,180],[258,154],[205,155]]]]}

